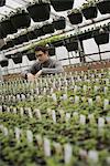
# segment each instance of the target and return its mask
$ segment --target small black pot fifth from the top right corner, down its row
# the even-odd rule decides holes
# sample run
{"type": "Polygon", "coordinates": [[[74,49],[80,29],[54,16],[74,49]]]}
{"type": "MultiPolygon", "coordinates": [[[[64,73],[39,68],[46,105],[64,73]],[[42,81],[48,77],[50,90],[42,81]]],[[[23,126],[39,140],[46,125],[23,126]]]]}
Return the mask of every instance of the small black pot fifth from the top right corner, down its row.
{"type": "Polygon", "coordinates": [[[42,29],[43,29],[43,32],[45,34],[54,33],[54,25],[53,25],[53,23],[44,24],[42,27],[42,29]]]}

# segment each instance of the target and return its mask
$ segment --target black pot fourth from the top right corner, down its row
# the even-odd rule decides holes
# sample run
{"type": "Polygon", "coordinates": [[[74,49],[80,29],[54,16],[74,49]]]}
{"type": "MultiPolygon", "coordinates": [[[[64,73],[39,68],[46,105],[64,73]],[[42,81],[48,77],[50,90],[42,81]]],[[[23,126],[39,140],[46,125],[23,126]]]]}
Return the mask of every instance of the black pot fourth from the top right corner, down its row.
{"type": "Polygon", "coordinates": [[[61,17],[57,20],[53,20],[53,24],[56,30],[63,30],[66,28],[66,20],[64,17],[61,17]]]}

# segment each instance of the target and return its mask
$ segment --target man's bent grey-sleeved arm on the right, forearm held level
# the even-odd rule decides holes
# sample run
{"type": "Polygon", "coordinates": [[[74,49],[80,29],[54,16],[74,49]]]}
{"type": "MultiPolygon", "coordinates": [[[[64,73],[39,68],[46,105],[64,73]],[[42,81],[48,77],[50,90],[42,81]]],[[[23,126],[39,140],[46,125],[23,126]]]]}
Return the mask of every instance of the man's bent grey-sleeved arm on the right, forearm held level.
{"type": "Polygon", "coordinates": [[[54,62],[55,68],[43,68],[42,73],[43,74],[55,74],[55,73],[62,73],[64,72],[64,69],[62,66],[62,63],[59,61],[54,62]]]}

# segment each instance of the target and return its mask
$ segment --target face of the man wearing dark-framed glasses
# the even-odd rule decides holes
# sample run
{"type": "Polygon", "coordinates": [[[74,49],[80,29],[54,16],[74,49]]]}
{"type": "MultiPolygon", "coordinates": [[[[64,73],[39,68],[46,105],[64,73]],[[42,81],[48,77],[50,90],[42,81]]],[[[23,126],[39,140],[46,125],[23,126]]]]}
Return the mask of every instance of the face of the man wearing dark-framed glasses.
{"type": "Polygon", "coordinates": [[[41,62],[44,63],[45,61],[48,60],[48,53],[47,52],[42,52],[42,51],[36,51],[35,52],[36,59],[41,62]]]}

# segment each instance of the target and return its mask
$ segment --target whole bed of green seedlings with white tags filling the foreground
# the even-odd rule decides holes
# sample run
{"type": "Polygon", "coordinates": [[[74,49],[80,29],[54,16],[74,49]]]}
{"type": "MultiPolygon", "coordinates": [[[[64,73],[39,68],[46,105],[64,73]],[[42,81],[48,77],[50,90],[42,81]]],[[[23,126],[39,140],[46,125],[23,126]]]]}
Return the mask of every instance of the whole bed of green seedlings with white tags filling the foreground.
{"type": "Polygon", "coordinates": [[[105,69],[1,83],[1,164],[109,166],[109,76],[105,69]]]}

